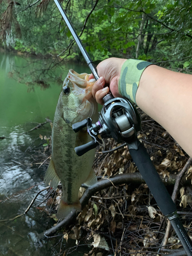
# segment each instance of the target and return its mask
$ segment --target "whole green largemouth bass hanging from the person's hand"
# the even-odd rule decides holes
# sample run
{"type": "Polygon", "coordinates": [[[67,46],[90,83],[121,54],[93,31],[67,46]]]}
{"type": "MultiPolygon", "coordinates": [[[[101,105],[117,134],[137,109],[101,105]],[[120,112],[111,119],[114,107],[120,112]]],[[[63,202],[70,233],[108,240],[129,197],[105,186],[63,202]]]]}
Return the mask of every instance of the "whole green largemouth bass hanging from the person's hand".
{"type": "Polygon", "coordinates": [[[74,147],[91,140],[87,129],[78,133],[72,130],[72,124],[91,117],[97,121],[97,102],[92,96],[95,80],[89,81],[87,73],[78,74],[72,69],[63,82],[56,106],[52,129],[52,156],[46,175],[46,186],[62,185],[62,197],[57,209],[57,218],[65,218],[73,208],[81,210],[78,199],[82,183],[92,185],[97,178],[92,169],[95,151],[91,150],[79,157],[74,147]]]}

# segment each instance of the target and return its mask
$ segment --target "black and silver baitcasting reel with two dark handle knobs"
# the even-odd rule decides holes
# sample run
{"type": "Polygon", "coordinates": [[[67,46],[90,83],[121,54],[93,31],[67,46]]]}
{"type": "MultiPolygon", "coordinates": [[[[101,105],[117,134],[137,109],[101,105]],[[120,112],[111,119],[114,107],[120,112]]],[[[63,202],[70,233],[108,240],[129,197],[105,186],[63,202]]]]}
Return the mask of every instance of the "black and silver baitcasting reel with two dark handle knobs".
{"type": "MultiPolygon", "coordinates": [[[[102,144],[101,138],[114,138],[117,142],[131,143],[135,134],[140,131],[140,117],[129,100],[114,98],[108,94],[103,98],[104,105],[99,115],[99,120],[92,124],[92,119],[87,118],[72,125],[73,131],[78,132],[87,126],[92,141],[75,147],[78,156],[102,144]]],[[[136,145],[137,146],[137,145],[136,145]]]]}

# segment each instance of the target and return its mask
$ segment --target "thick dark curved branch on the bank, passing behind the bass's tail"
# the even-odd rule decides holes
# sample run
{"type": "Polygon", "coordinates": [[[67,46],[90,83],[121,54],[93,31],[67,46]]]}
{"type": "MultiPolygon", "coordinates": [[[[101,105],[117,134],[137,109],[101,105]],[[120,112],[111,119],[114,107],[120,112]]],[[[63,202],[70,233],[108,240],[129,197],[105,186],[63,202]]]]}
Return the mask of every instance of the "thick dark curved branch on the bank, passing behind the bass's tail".
{"type": "MultiPolygon", "coordinates": [[[[163,183],[165,185],[170,185],[170,184],[174,184],[176,182],[176,175],[169,175],[169,178],[164,178],[162,176],[160,176],[163,183]]],[[[182,181],[186,181],[185,178],[182,179],[182,181]]],[[[188,182],[190,183],[190,180],[188,180],[188,182]]],[[[89,199],[98,191],[108,188],[110,186],[114,186],[114,185],[120,185],[120,184],[129,184],[129,183],[145,183],[145,181],[143,180],[142,176],[140,173],[127,173],[127,174],[119,174],[119,175],[115,175],[114,177],[109,178],[104,178],[101,181],[97,182],[95,185],[90,186],[87,188],[86,192],[83,194],[82,198],[80,199],[80,203],[83,207],[86,206],[86,204],[88,203],[89,199]]],[[[72,210],[71,214],[68,215],[65,219],[63,219],[62,221],[60,221],[56,226],[48,229],[45,231],[44,235],[45,237],[49,237],[51,234],[55,233],[57,230],[59,230],[61,227],[65,227],[67,225],[69,225],[71,223],[71,221],[76,217],[76,210],[72,210]]]]}

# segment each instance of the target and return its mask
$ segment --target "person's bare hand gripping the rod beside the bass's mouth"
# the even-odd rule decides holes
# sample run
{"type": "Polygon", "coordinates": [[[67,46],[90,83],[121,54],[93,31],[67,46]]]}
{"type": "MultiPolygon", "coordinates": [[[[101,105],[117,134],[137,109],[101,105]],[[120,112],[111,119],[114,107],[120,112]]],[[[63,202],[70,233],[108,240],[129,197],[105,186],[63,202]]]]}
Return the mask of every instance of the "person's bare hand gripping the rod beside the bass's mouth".
{"type": "MultiPolygon", "coordinates": [[[[118,91],[118,81],[120,78],[121,68],[126,59],[109,58],[101,61],[97,66],[99,79],[94,83],[92,88],[93,97],[99,104],[103,104],[102,98],[111,91],[114,97],[122,97],[118,91]],[[107,87],[103,88],[104,85],[107,87]]],[[[89,79],[94,78],[91,74],[89,79]]]]}

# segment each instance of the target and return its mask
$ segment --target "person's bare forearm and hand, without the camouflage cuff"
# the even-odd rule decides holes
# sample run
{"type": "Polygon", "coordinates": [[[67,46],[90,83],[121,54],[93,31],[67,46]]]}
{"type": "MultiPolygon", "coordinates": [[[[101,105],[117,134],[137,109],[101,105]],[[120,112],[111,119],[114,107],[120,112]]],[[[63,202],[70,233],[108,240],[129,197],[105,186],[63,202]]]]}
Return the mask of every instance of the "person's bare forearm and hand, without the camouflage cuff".
{"type": "MultiPolygon", "coordinates": [[[[101,84],[110,84],[115,97],[118,92],[120,70],[125,59],[110,58],[99,63],[97,70],[100,81],[93,87],[93,95],[102,103],[105,95],[101,84]],[[111,68],[112,67],[112,68],[111,68]]],[[[109,89],[105,89],[106,93],[109,89]]],[[[136,93],[136,103],[147,115],[161,124],[164,129],[192,157],[192,75],[173,72],[156,65],[148,66],[142,73],[136,93]]]]}

